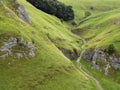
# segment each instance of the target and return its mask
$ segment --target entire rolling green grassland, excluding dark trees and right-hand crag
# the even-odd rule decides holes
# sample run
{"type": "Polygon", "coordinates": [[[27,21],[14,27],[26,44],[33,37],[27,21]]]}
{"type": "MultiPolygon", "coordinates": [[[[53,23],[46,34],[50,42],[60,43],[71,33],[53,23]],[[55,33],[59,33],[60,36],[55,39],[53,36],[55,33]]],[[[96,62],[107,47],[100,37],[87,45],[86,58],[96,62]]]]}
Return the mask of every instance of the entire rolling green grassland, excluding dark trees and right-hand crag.
{"type": "Polygon", "coordinates": [[[61,22],[26,0],[0,0],[0,90],[119,90],[119,70],[105,76],[81,55],[110,44],[120,55],[120,1],[59,1],[73,7],[74,20],[61,22]],[[81,52],[79,63],[61,48],[81,52]]]}

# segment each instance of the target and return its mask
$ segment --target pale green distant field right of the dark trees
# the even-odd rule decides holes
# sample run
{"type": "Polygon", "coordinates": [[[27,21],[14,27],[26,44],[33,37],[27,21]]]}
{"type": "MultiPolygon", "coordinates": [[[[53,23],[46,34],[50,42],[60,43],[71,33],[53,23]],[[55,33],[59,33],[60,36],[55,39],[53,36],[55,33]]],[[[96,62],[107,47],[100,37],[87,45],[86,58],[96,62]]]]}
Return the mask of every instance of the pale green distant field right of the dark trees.
{"type": "Polygon", "coordinates": [[[119,0],[59,0],[71,5],[75,11],[75,20],[79,21],[85,17],[85,12],[91,12],[92,16],[106,11],[119,8],[119,0]]]}

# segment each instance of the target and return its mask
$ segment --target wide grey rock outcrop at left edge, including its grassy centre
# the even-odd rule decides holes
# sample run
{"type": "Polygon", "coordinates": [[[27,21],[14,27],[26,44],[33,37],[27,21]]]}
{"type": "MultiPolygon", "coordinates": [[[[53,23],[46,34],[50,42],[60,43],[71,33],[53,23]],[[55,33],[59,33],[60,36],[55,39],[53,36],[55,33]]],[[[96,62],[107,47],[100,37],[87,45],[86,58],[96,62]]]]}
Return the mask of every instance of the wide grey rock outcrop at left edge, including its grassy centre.
{"type": "Polygon", "coordinates": [[[32,42],[26,43],[22,37],[10,37],[8,41],[4,42],[3,46],[0,47],[0,58],[6,59],[9,56],[18,59],[26,56],[35,57],[35,46],[32,42]]]}

